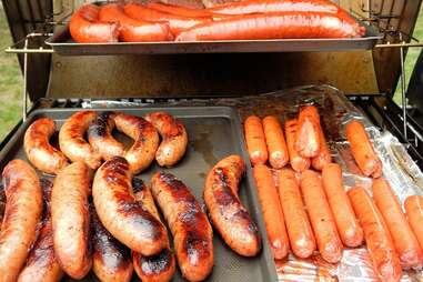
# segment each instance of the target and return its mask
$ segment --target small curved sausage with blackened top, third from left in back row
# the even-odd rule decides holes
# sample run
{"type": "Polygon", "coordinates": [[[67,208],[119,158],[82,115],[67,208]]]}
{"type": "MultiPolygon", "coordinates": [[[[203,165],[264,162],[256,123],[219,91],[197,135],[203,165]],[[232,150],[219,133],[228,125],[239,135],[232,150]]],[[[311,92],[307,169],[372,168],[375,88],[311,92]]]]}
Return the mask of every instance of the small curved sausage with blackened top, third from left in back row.
{"type": "Polygon", "coordinates": [[[124,147],[118,142],[113,135],[114,128],[113,112],[102,112],[88,128],[88,141],[92,149],[98,152],[103,160],[110,160],[114,155],[123,157],[124,147]]]}

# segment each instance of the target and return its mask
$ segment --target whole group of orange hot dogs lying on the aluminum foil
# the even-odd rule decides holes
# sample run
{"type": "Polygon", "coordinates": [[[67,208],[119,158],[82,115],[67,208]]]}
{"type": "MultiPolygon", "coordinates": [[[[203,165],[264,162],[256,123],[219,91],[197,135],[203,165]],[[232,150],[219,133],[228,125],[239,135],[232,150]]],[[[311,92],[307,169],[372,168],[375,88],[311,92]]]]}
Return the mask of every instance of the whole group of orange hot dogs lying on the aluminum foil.
{"type": "Polygon", "coordinates": [[[382,281],[399,281],[402,269],[423,266],[423,198],[407,198],[403,213],[389,182],[380,178],[382,162],[361,122],[348,123],[345,134],[360,170],[374,178],[373,197],[361,185],[344,189],[314,105],[288,120],[285,134],[275,117],[251,115],[244,129],[274,259],[285,258],[290,249],[309,258],[318,249],[325,261],[336,263],[343,245],[355,248],[364,240],[382,281]]]}

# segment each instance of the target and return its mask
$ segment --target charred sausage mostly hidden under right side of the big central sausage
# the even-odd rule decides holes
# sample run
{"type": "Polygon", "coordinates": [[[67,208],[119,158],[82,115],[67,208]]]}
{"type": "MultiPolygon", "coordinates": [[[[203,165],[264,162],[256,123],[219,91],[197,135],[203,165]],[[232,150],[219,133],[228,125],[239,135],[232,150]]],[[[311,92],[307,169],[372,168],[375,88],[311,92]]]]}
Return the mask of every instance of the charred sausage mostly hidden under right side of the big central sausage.
{"type": "MultiPolygon", "coordinates": [[[[160,220],[159,211],[155,208],[150,189],[141,179],[133,179],[132,187],[135,200],[139,201],[145,210],[160,220]]],[[[144,256],[132,252],[133,266],[138,276],[143,282],[167,282],[172,279],[175,271],[174,255],[168,248],[158,254],[144,256]]]]}

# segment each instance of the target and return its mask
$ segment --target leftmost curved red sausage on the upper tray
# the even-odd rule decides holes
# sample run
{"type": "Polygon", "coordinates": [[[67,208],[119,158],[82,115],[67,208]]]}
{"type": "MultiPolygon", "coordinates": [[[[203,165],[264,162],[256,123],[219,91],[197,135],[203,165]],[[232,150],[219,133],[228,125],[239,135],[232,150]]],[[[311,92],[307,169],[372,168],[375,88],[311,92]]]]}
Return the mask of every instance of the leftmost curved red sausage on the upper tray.
{"type": "Polygon", "coordinates": [[[100,8],[95,4],[84,4],[72,14],[69,31],[72,39],[79,43],[117,42],[119,23],[100,22],[100,8]]]}

